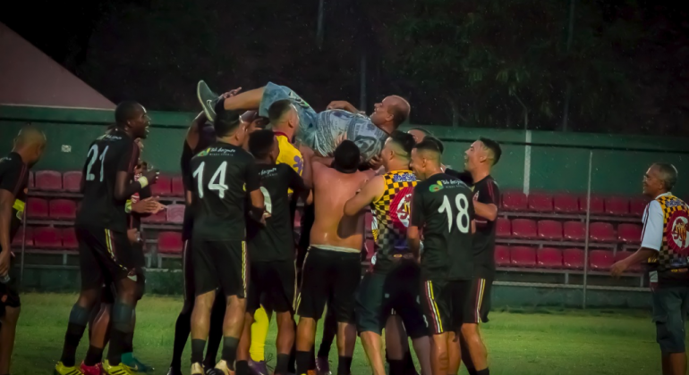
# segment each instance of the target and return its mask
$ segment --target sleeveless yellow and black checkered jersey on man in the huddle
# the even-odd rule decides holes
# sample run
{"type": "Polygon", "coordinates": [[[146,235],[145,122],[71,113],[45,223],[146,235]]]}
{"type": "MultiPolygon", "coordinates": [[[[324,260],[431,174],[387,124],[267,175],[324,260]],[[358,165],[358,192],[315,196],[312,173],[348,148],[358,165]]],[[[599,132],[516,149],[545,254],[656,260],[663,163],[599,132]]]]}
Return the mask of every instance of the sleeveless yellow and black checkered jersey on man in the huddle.
{"type": "Polygon", "coordinates": [[[412,171],[390,171],[383,175],[385,192],[371,204],[373,238],[376,243],[375,269],[384,271],[391,265],[391,256],[409,252],[406,234],[410,220],[413,187],[412,171]]]}

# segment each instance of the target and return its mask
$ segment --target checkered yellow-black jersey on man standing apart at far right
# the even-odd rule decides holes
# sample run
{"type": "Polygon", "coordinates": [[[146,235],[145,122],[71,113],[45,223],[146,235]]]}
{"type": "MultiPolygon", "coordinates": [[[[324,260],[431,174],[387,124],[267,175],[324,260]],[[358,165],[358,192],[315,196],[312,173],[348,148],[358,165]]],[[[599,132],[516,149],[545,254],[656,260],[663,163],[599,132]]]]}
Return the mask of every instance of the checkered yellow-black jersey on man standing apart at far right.
{"type": "Polygon", "coordinates": [[[649,259],[651,271],[658,271],[662,284],[673,280],[686,282],[689,279],[689,206],[672,195],[659,196],[656,201],[663,212],[663,237],[658,255],[649,259]]]}

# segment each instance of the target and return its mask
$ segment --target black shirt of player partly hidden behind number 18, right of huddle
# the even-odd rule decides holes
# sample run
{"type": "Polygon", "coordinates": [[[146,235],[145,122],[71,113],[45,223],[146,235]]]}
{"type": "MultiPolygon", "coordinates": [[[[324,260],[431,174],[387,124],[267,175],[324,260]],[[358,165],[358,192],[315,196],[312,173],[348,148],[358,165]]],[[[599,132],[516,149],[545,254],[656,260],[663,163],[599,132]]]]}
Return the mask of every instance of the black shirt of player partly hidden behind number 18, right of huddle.
{"type": "MultiPolygon", "coordinates": [[[[482,204],[500,206],[500,188],[488,176],[473,185],[473,200],[482,204]]],[[[476,277],[495,278],[495,228],[496,221],[476,216],[476,233],[473,235],[473,254],[476,277]]]]}

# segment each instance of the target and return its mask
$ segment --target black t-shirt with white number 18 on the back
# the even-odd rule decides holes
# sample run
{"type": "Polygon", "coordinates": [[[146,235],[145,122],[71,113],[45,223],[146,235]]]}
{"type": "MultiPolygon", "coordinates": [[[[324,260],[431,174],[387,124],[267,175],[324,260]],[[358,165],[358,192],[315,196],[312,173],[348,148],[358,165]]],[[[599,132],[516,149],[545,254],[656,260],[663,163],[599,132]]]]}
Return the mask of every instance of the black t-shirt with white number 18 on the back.
{"type": "Polygon", "coordinates": [[[412,225],[423,234],[421,277],[472,279],[472,190],[438,173],[419,182],[412,197],[412,225]]]}

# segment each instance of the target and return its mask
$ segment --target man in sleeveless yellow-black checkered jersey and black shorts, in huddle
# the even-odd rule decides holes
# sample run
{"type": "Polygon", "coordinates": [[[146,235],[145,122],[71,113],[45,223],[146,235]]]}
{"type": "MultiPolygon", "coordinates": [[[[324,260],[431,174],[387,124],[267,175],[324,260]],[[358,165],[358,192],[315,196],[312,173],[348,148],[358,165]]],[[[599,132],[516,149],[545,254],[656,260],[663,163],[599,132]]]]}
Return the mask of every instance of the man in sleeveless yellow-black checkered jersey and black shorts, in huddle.
{"type": "MultiPolygon", "coordinates": [[[[409,206],[416,177],[409,170],[413,137],[395,131],[386,141],[381,159],[386,174],[370,179],[362,191],[344,205],[344,214],[357,215],[373,207],[376,254],[357,294],[357,328],[375,375],[385,374],[380,352],[382,329],[388,312],[395,309],[421,362],[424,374],[430,373],[430,340],[420,304],[419,265],[406,243],[409,206]]],[[[390,358],[390,372],[404,373],[404,357],[390,358]]]]}

